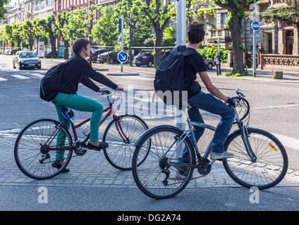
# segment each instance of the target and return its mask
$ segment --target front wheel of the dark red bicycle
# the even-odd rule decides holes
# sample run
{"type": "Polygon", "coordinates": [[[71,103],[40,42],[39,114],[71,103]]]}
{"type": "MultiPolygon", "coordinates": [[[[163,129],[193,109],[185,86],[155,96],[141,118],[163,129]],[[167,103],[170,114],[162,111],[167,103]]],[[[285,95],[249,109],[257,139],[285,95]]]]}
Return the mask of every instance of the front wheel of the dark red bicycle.
{"type": "Polygon", "coordinates": [[[103,151],[106,160],[113,167],[121,170],[130,170],[132,169],[134,145],[148,127],[145,121],[137,115],[120,115],[118,120],[128,140],[124,140],[122,138],[123,135],[120,135],[121,131],[118,131],[118,127],[116,127],[118,123],[116,118],[114,118],[104,131],[103,141],[109,143],[109,147],[103,151]]]}

